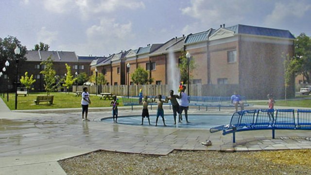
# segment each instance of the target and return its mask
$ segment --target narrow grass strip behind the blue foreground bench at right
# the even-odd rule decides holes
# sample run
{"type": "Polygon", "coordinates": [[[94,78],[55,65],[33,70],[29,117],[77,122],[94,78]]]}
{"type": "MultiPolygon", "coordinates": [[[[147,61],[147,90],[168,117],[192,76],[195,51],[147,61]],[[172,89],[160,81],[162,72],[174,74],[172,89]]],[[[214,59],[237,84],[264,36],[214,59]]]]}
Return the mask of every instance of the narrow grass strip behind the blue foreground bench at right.
{"type": "MultiPolygon", "coordinates": [[[[267,102],[252,102],[254,105],[267,105],[268,107],[268,100],[267,102]]],[[[293,106],[293,107],[311,107],[311,100],[304,99],[304,100],[277,100],[275,105],[277,106],[293,106]]]]}

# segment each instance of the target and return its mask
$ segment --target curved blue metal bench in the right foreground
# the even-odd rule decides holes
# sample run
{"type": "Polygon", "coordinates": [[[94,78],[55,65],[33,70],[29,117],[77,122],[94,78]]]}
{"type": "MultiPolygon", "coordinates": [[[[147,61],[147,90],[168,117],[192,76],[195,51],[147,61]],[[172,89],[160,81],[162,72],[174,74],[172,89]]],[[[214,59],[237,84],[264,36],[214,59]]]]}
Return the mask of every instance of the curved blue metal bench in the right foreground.
{"type": "Polygon", "coordinates": [[[295,120],[294,109],[252,109],[233,113],[230,123],[209,129],[210,133],[223,131],[223,135],[232,133],[235,143],[235,133],[252,130],[272,130],[275,139],[276,129],[311,130],[311,110],[297,110],[295,120]]]}

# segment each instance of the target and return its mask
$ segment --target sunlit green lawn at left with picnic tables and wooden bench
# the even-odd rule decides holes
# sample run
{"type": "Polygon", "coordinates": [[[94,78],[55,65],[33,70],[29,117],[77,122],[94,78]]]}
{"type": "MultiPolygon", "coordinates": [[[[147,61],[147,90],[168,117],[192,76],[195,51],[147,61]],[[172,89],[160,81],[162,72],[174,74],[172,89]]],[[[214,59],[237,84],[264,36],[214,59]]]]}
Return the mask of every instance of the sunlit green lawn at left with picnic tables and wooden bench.
{"type": "MultiPolygon", "coordinates": [[[[53,105],[47,105],[45,102],[40,102],[39,105],[35,105],[34,100],[36,99],[37,95],[46,95],[46,92],[37,92],[37,93],[30,93],[28,96],[24,97],[19,95],[17,99],[17,109],[55,109],[55,108],[74,108],[74,107],[81,107],[81,96],[76,97],[75,93],[64,93],[64,92],[52,92],[51,95],[54,95],[53,105]]],[[[11,109],[15,109],[15,93],[9,94],[9,102],[7,102],[6,94],[2,100],[6,105],[11,109]]],[[[92,104],[89,107],[108,107],[110,106],[111,100],[100,100],[99,96],[90,95],[90,99],[92,104]]],[[[121,104],[120,99],[120,105],[121,104]]]]}

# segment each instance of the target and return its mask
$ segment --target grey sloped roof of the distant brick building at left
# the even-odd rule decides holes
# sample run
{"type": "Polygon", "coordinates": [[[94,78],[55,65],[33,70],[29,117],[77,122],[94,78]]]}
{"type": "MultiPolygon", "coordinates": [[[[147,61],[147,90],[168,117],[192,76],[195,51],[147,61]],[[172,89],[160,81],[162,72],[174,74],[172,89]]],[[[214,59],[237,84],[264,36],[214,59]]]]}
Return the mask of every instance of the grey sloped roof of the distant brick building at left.
{"type": "Polygon", "coordinates": [[[51,56],[54,62],[78,62],[78,57],[74,52],[64,51],[27,51],[27,61],[45,61],[51,56]]]}

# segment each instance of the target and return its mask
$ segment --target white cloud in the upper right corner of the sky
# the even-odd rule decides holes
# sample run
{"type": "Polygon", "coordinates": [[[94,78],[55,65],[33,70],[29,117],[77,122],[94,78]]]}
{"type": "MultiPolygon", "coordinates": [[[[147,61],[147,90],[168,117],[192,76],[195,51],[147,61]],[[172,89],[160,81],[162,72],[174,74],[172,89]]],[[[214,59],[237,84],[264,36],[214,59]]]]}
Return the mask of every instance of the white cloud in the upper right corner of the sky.
{"type": "Polygon", "coordinates": [[[289,18],[302,18],[309,10],[311,10],[310,1],[279,1],[275,3],[272,13],[266,17],[265,24],[277,26],[288,23],[289,18]]]}

